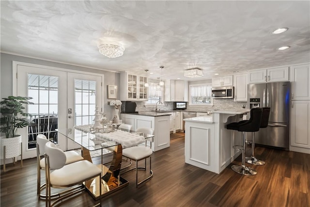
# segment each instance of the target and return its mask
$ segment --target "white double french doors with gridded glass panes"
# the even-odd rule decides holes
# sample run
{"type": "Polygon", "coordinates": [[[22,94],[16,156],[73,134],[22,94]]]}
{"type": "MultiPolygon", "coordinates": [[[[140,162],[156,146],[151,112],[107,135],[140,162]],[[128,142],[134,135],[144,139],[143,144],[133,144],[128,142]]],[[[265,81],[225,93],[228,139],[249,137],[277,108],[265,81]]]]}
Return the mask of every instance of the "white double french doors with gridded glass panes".
{"type": "Polygon", "coordinates": [[[103,75],[23,64],[16,65],[16,74],[16,95],[30,96],[34,103],[27,105],[33,124],[18,130],[23,158],[36,156],[38,134],[44,134],[63,150],[80,147],[56,129],[67,128],[67,136],[71,136],[75,125],[92,124],[95,107],[102,109],[103,75]]]}

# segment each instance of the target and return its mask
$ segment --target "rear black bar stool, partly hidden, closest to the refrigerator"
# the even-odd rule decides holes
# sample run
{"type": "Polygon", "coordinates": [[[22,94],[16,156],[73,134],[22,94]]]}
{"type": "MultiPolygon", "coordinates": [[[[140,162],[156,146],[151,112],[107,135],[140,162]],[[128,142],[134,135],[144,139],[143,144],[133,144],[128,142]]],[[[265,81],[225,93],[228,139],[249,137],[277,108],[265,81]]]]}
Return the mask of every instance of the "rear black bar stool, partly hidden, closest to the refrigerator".
{"type": "MultiPolygon", "coordinates": [[[[264,107],[263,108],[263,115],[262,115],[262,121],[260,128],[266,128],[268,127],[268,121],[269,121],[269,114],[270,114],[270,107],[264,107]]],[[[249,160],[247,161],[250,164],[253,165],[263,165],[265,164],[264,161],[259,160],[255,157],[254,153],[255,148],[255,140],[254,140],[254,132],[252,132],[252,156],[249,157],[249,160]]]]}

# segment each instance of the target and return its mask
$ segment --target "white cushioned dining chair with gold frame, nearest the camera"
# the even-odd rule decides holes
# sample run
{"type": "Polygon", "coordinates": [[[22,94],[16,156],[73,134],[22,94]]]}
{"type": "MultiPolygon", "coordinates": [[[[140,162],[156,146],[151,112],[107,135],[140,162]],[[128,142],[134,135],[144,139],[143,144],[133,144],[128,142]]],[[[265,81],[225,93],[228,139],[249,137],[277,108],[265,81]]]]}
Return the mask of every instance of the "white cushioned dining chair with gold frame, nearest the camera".
{"type": "MultiPolygon", "coordinates": [[[[61,202],[63,199],[71,195],[76,195],[79,191],[83,191],[85,186],[83,182],[95,179],[99,176],[101,179],[101,168],[88,160],[80,160],[70,164],[66,164],[66,155],[62,149],[56,148],[52,142],[45,144],[45,168],[46,168],[46,206],[51,207],[61,202]],[[51,172],[52,171],[52,172],[51,172]],[[67,190],[65,194],[61,194],[51,204],[51,188],[69,188],[78,185],[79,189],[73,191],[67,190]]],[[[99,185],[100,206],[102,185],[99,185]]]]}

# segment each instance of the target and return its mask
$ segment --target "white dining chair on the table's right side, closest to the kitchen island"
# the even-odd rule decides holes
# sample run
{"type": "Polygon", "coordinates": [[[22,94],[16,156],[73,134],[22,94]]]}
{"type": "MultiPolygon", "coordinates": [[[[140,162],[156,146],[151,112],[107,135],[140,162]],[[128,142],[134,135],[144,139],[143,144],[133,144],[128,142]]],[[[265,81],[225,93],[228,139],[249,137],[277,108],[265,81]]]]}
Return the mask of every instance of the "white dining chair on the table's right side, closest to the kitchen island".
{"type": "MultiPolygon", "coordinates": [[[[142,133],[147,133],[147,134],[154,134],[154,129],[152,128],[138,128],[136,130],[137,132],[142,132],[142,133]]],[[[140,184],[148,181],[151,179],[151,177],[153,176],[153,171],[152,171],[152,159],[151,156],[153,154],[153,150],[150,147],[147,146],[133,146],[133,147],[128,147],[123,149],[123,156],[125,158],[128,158],[130,160],[135,160],[136,161],[136,167],[133,167],[127,171],[125,171],[123,174],[132,171],[132,170],[136,170],[136,187],[138,187],[140,184]],[[138,181],[138,170],[144,170],[146,171],[146,159],[150,158],[150,175],[141,180],[140,182],[138,181]],[[144,167],[139,167],[138,166],[138,161],[144,159],[144,167]]]]}

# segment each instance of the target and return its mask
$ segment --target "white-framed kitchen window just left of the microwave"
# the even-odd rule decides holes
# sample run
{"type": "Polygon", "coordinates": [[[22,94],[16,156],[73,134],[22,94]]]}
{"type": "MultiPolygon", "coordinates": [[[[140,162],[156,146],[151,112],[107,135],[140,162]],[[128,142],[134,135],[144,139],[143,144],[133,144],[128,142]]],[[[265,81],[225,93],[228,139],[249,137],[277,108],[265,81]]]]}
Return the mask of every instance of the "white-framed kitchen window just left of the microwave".
{"type": "Polygon", "coordinates": [[[189,105],[212,106],[212,85],[195,84],[189,85],[189,105]]]}

